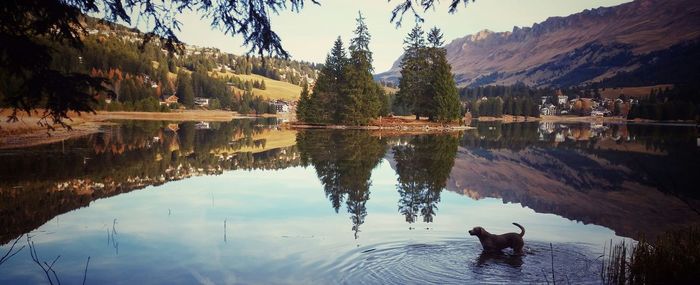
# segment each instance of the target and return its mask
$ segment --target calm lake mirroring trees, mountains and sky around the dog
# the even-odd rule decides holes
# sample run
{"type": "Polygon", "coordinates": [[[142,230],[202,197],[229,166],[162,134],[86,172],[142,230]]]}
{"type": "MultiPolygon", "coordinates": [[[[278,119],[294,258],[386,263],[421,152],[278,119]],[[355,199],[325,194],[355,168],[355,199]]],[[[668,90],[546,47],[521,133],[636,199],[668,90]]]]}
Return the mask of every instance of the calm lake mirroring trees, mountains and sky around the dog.
{"type": "Polygon", "coordinates": [[[597,284],[611,241],[700,221],[695,126],[475,127],[121,121],[0,150],[0,256],[24,246],[0,284],[597,284]],[[524,256],[467,233],[512,222],[524,256]]]}

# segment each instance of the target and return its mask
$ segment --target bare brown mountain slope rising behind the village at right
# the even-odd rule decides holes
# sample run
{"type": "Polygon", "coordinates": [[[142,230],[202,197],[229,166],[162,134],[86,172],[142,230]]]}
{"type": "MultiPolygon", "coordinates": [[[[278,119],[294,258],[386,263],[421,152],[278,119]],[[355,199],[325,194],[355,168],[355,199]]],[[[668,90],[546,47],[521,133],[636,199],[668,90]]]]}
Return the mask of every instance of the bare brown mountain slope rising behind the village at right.
{"type": "MultiPolygon", "coordinates": [[[[460,86],[692,82],[698,79],[693,66],[700,61],[699,27],[700,1],[636,0],[509,32],[484,30],[445,49],[460,86]],[[673,72],[682,78],[644,76],[649,71],[663,76],[667,70],[693,72],[673,72]]],[[[399,62],[375,78],[397,81],[399,62]]]]}

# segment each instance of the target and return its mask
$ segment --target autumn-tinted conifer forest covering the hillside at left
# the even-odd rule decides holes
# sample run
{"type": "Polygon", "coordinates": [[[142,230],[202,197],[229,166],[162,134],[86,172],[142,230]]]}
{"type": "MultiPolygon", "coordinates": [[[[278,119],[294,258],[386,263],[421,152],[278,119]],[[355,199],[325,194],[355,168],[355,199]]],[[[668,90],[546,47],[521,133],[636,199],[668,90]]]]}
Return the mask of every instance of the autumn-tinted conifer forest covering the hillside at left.
{"type": "MultiPolygon", "coordinates": [[[[135,29],[83,17],[87,33],[82,47],[36,37],[32,40],[50,47],[50,68],[65,74],[105,79],[98,96],[89,98],[96,110],[168,112],[181,107],[195,108],[194,98],[209,98],[209,109],[243,113],[274,113],[269,101],[256,96],[253,88],[264,90],[264,80],[222,78],[216,71],[260,74],[268,78],[301,84],[316,79],[316,65],[306,62],[255,56],[237,56],[217,49],[183,46],[169,52],[160,41],[142,41],[135,29]],[[234,92],[233,88],[243,90],[234,92]],[[177,104],[159,103],[176,95],[177,104]]],[[[10,106],[19,94],[21,80],[0,73],[0,106],[10,106]],[[14,83],[10,83],[14,82],[14,83]]],[[[94,94],[94,93],[93,93],[94,94]]]]}

